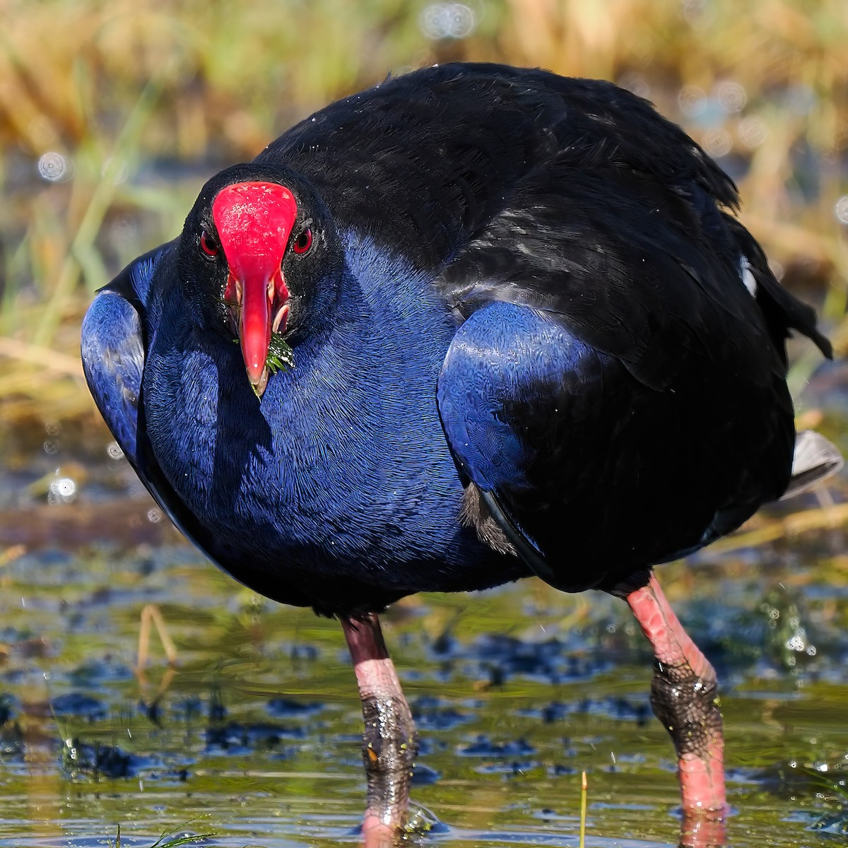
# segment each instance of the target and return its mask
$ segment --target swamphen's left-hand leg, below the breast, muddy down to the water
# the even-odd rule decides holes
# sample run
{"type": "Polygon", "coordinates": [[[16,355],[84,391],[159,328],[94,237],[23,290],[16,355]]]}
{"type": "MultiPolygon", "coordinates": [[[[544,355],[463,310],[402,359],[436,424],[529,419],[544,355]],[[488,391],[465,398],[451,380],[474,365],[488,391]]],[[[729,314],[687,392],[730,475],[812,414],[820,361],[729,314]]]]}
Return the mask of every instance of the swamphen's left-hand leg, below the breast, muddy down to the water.
{"type": "Polygon", "coordinates": [[[366,844],[378,845],[382,844],[379,834],[391,839],[405,823],[418,739],[377,615],[345,616],[342,627],[354,661],[365,719],[362,759],[368,801],[363,833],[366,844]]]}

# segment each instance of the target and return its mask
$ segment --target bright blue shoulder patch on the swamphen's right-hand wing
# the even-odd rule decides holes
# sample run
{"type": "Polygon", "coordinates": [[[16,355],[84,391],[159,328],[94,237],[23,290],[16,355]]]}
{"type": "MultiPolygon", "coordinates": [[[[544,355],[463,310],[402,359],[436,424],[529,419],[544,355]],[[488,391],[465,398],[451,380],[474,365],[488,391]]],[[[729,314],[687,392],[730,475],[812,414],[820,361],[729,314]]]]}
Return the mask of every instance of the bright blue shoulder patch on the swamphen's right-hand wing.
{"type": "MultiPolygon", "coordinates": [[[[585,398],[600,371],[589,345],[573,338],[541,310],[494,302],[460,326],[438,378],[438,410],[460,471],[480,489],[488,510],[527,565],[540,577],[556,578],[533,527],[520,521],[510,505],[534,498],[528,472],[541,452],[560,446],[565,432],[556,421],[543,438],[527,438],[510,414],[516,399],[543,403],[546,387],[562,396],[585,398]]],[[[572,402],[572,406],[573,406],[572,402]]]]}

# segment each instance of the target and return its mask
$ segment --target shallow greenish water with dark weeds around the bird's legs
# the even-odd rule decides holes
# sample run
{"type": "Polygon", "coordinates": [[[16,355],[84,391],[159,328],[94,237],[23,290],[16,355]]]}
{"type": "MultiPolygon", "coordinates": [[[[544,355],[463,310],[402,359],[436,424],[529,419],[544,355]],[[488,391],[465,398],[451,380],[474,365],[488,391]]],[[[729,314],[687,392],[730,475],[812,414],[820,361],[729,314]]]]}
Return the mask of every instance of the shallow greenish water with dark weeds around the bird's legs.
{"type": "MultiPolygon", "coordinates": [[[[338,623],[218,572],[156,521],[103,432],[82,435],[3,438],[0,551],[26,551],[0,568],[0,846],[108,845],[119,824],[121,845],[165,830],[356,844],[361,717],[338,623]],[[69,468],[70,496],[50,485],[69,468]],[[180,660],[169,672],[154,637],[139,680],[148,603],[180,660]]],[[[844,542],[832,530],[660,570],[722,680],[737,848],[844,839],[811,829],[848,771],[844,542]]],[[[585,770],[587,845],[678,843],[672,746],[622,602],[524,581],[416,597],[385,621],[421,730],[413,799],[437,823],[411,841],[577,845],[585,770]]]]}

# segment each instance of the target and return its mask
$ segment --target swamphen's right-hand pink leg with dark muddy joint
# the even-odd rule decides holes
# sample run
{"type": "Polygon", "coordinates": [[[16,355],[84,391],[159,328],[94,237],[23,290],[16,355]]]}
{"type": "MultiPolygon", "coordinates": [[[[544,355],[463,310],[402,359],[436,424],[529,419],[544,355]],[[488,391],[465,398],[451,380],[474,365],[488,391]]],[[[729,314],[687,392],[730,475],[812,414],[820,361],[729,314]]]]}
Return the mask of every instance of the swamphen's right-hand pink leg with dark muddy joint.
{"type": "Polygon", "coordinates": [[[627,601],[654,649],[650,703],[677,750],[683,816],[722,817],[727,808],[716,672],[683,630],[653,574],[627,601]]]}

